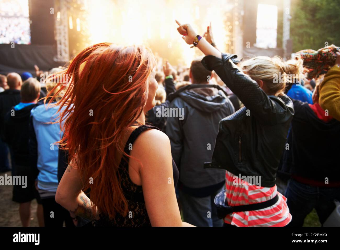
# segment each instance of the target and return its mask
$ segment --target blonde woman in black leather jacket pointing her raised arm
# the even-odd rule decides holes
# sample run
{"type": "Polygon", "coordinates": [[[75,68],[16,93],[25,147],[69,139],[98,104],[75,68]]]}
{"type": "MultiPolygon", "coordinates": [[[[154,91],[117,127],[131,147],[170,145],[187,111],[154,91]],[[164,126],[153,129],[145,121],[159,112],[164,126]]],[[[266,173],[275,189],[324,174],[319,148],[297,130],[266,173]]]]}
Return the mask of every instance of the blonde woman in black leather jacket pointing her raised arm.
{"type": "Polygon", "coordinates": [[[260,56],[236,66],[236,55],[219,52],[190,24],[177,24],[183,39],[206,55],[202,64],[244,104],[221,120],[212,162],[205,164],[226,169],[226,191],[215,198],[223,201],[225,226],[286,226],[292,216],[275,179],[294,108],[283,90],[300,76],[302,60],[260,56]]]}

